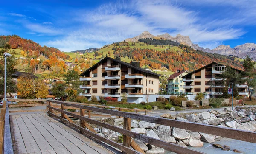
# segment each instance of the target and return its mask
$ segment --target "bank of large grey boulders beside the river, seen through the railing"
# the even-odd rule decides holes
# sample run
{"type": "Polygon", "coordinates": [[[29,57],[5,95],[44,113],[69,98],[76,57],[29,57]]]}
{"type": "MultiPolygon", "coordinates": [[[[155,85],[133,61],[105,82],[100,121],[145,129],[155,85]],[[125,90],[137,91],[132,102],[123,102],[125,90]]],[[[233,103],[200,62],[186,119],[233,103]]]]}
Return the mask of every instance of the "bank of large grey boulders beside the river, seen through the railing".
{"type": "MultiPolygon", "coordinates": [[[[149,115],[150,116],[150,115],[149,115]]],[[[188,113],[188,114],[163,114],[158,115],[162,118],[170,118],[181,121],[189,121],[195,123],[203,123],[207,125],[215,125],[220,127],[228,127],[234,129],[242,129],[248,131],[256,131],[256,106],[250,107],[236,107],[234,111],[230,108],[226,108],[225,110],[209,110],[208,112],[201,113],[188,113]]],[[[111,118],[111,119],[102,119],[107,123],[111,123],[115,126],[123,127],[123,119],[122,118],[111,118]]],[[[117,132],[111,131],[105,128],[94,128],[96,132],[100,135],[111,139],[111,140],[120,140],[120,135],[117,132]]],[[[148,123],[145,121],[137,121],[131,120],[131,131],[137,132],[139,134],[143,134],[149,137],[154,137],[160,140],[164,140],[166,142],[175,143],[180,146],[192,146],[192,147],[202,147],[204,143],[214,143],[215,140],[220,139],[221,137],[200,133],[200,132],[192,132],[185,129],[179,129],[175,127],[169,127],[165,125],[158,125],[155,123],[148,123]]],[[[157,154],[164,153],[164,149],[158,148],[156,146],[145,144],[140,140],[135,140],[137,144],[145,151],[147,154],[157,154]]],[[[229,149],[228,143],[227,145],[218,145],[215,147],[221,148],[223,150],[231,150],[236,151],[236,149],[229,149]]]]}

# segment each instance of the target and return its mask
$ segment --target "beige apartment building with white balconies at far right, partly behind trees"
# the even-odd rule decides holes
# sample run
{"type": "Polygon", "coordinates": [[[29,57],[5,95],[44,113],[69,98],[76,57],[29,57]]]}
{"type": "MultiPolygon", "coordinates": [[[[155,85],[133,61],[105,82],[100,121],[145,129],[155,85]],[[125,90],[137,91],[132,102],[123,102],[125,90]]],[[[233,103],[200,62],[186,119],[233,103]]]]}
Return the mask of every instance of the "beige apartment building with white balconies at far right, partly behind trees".
{"type": "MultiPolygon", "coordinates": [[[[217,78],[219,74],[225,71],[226,66],[212,62],[204,67],[199,68],[183,76],[183,88],[189,95],[196,95],[198,92],[206,92],[210,98],[218,98],[223,94],[223,80],[217,78]]],[[[242,70],[236,70],[241,73],[242,70]]],[[[238,87],[239,95],[248,96],[247,84],[234,85],[238,87]]]]}

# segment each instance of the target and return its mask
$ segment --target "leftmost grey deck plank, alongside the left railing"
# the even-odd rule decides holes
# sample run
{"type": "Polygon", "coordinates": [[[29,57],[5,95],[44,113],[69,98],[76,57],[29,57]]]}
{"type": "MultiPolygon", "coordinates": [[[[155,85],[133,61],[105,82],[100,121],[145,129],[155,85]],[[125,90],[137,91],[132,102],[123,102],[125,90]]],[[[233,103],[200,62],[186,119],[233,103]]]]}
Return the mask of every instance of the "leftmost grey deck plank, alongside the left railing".
{"type": "Polygon", "coordinates": [[[14,151],[16,154],[26,154],[26,147],[21,135],[15,115],[10,115],[11,134],[13,138],[14,151]]]}

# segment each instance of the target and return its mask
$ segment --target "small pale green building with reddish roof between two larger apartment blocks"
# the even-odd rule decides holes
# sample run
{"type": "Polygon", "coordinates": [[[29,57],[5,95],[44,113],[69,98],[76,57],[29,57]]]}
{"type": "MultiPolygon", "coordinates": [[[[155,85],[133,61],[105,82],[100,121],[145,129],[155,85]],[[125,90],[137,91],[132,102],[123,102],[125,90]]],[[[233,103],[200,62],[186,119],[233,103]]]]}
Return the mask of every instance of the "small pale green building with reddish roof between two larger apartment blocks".
{"type": "Polygon", "coordinates": [[[183,82],[183,76],[187,75],[189,72],[186,70],[178,70],[177,73],[173,73],[169,78],[167,78],[168,81],[168,94],[169,95],[179,95],[180,93],[185,92],[185,89],[183,88],[183,85],[185,85],[185,82],[183,82]]]}

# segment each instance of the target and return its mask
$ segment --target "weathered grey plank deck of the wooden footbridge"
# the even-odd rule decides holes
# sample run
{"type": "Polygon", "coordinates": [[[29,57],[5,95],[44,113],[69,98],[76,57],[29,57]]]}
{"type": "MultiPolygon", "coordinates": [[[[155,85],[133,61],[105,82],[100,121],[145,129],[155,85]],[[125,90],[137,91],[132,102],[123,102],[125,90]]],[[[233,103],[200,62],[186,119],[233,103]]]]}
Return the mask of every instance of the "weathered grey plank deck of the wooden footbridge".
{"type": "Polygon", "coordinates": [[[45,113],[10,115],[10,124],[15,154],[119,153],[45,113]]]}

